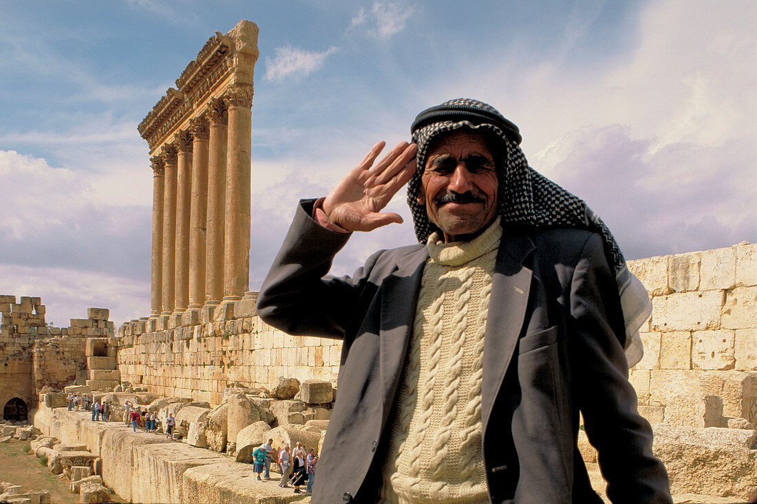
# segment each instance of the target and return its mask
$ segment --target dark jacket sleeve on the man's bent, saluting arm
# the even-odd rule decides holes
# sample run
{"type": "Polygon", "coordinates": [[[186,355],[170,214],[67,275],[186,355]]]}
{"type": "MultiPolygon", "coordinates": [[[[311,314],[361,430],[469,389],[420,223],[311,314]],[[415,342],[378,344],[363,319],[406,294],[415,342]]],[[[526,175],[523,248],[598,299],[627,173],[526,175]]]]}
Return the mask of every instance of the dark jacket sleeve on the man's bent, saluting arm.
{"type": "Polygon", "coordinates": [[[374,254],[350,277],[327,276],[332,260],[350,237],[330,231],[310,216],[313,200],[298,205],[279,254],[260,294],[257,313],[287,334],[344,338],[354,317],[366,274],[381,253],[374,254]]]}

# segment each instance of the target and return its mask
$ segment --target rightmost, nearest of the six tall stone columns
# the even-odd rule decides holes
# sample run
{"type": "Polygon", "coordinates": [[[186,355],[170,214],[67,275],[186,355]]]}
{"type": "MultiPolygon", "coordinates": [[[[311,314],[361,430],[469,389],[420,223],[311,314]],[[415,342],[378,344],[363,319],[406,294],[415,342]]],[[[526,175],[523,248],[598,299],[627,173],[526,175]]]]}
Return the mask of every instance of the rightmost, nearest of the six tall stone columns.
{"type": "Polygon", "coordinates": [[[229,143],[226,156],[226,222],[223,300],[239,300],[250,285],[250,151],[252,87],[226,92],[229,143]]]}

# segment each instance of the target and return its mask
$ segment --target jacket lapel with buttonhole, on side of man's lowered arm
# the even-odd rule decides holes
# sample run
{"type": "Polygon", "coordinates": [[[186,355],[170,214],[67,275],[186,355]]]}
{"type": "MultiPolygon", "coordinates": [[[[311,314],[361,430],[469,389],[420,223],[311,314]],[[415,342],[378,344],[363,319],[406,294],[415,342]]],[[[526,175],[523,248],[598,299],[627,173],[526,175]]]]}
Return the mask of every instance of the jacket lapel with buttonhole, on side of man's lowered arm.
{"type": "Polygon", "coordinates": [[[522,263],[531,250],[534,250],[531,238],[517,232],[511,235],[508,229],[504,229],[494,266],[484,332],[484,375],[481,384],[481,424],[484,433],[525,319],[532,272],[522,263]]]}

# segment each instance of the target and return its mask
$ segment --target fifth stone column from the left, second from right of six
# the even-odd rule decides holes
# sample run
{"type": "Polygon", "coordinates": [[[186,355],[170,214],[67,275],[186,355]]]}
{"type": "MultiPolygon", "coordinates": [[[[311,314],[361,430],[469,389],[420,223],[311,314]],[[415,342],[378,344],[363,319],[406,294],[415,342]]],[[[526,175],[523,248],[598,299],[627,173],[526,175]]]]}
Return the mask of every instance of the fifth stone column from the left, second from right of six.
{"type": "Polygon", "coordinates": [[[207,172],[207,257],[205,304],[217,305],[223,297],[223,226],[226,213],[226,104],[210,98],[210,145],[207,172]]]}

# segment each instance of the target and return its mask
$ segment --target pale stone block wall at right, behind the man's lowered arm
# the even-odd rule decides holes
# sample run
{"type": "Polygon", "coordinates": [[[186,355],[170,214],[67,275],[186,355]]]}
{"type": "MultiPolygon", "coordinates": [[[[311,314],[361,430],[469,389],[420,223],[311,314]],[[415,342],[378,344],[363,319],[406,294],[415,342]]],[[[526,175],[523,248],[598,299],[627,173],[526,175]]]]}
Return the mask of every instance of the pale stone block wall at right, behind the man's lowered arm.
{"type": "Polygon", "coordinates": [[[628,265],[650,291],[644,357],[631,369],[656,424],[757,423],[757,245],[650,257],[628,265]]]}

